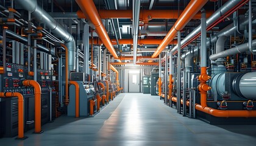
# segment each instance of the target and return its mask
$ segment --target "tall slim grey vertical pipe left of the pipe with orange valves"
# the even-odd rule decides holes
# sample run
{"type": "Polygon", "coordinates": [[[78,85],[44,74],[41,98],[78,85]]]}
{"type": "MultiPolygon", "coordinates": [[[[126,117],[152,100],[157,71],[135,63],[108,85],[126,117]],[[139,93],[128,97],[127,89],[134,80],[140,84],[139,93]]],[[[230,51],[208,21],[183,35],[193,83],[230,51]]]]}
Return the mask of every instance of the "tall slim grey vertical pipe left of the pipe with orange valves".
{"type": "Polygon", "coordinates": [[[180,31],[178,31],[178,57],[177,57],[177,113],[180,114],[180,31]]]}

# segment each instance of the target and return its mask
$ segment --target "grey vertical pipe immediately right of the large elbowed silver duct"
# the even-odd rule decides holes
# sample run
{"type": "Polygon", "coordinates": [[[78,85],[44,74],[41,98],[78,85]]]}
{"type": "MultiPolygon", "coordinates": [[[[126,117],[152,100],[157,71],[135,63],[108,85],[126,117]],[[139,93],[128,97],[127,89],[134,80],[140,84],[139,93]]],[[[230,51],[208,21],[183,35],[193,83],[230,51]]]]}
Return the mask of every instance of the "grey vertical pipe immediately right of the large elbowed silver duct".
{"type": "Polygon", "coordinates": [[[89,74],[89,63],[88,63],[88,58],[89,58],[89,24],[85,24],[84,26],[84,38],[83,38],[83,43],[84,43],[84,72],[85,74],[89,74]]]}

